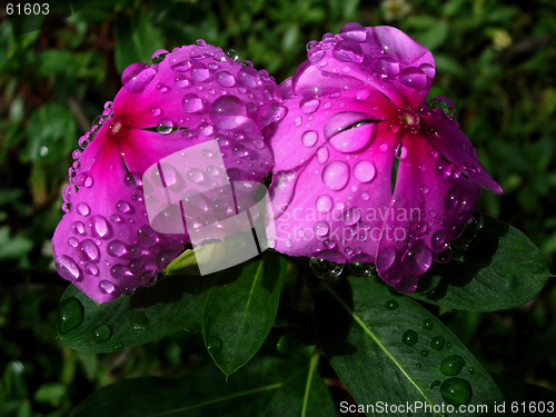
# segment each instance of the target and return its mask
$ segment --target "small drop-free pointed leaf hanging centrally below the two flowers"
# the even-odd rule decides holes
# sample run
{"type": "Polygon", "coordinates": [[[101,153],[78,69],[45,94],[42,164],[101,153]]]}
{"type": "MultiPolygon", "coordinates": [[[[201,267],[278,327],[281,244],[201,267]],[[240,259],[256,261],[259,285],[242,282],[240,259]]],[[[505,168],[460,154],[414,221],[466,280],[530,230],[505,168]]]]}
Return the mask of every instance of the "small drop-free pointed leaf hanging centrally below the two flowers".
{"type": "Polygon", "coordinates": [[[261,347],[272,327],[286,258],[267,250],[262,257],[229,269],[212,285],[202,312],[210,356],[227,376],[261,347]]]}

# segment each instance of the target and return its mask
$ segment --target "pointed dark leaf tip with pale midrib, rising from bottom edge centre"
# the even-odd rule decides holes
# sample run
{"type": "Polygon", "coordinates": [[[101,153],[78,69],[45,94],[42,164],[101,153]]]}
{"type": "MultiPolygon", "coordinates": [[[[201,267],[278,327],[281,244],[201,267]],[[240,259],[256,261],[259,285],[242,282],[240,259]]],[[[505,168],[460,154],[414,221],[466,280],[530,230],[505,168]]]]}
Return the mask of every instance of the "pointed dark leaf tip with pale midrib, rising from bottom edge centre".
{"type": "Polygon", "coordinates": [[[320,355],[297,370],[276,391],[265,417],[335,417],[336,406],[325,381],[317,371],[320,355]]]}

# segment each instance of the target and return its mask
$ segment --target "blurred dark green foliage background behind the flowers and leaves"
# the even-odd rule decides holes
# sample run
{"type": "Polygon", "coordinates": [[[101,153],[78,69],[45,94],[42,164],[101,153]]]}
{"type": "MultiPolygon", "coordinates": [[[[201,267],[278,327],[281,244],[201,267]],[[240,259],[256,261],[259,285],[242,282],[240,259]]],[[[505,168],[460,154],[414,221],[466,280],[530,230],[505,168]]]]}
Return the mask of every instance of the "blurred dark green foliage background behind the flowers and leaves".
{"type": "MultiPolygon", "coordinates": [[[[78,138],[120,88],[121,71],[202,38],[235,49],[277,82],[309,40],[347,21],[391,24],[429,48],[431,96],[457,107],[464,132],[504,188],[477,210],[524,231],[554,270],[556,252],[556,2],[548,0],[81,1],[64,19],[14,37],[0,10],[0,416],[67,416],[120,378],[183,375],[207,360],[198,334],[86,355],[56,339],[67,281],[50,238],[78,138]],[[81,4],[82,6],[82,4],[81,4]]],[[[76,2],[75,2],[76,3],[76,2]]],[[[556,390],[556,288],[502,312],[439,311],[493,374],[556,390]]]]}

